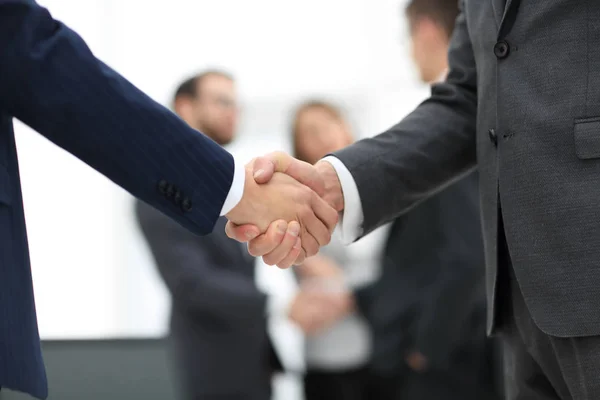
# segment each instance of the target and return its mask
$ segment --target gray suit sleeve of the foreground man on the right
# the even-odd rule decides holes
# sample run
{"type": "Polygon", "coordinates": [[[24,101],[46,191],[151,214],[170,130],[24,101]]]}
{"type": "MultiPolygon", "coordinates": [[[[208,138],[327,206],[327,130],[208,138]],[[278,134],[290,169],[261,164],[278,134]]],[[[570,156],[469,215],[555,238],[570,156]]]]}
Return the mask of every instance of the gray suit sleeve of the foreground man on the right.
{"type": "Polygon", "coordinates": [[[464,13],[450,42],[449,74],[400,123],[333,154],[352,174],[366,235],[474,169],[477,72],[464,13]]]}

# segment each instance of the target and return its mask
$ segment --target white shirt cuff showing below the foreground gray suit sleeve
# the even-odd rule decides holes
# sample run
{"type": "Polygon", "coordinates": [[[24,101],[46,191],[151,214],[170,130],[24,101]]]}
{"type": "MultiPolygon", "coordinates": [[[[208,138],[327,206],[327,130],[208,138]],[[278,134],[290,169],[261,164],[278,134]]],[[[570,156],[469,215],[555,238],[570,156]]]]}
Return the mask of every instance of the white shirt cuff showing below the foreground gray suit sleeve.
{"type": "Polygon", "coordinates": [[[356,182],[348,168],[339,158],[327,156],[323,158],[323,161],[327,161],[335,169],[342,186],[344,211],[340,213],[340,220],[336,229],[342,242],[349,245],[361,237],[363,233],[364,215],[358,186],[356,186],[356,182]]]}

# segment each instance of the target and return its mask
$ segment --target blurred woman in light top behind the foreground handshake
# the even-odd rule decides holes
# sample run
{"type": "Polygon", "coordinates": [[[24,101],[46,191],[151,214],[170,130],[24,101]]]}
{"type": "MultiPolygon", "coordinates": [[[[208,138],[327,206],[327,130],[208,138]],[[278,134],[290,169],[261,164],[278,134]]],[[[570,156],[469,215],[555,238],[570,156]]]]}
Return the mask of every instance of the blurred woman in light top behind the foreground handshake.
{"type": "MultiPolygon", "coordinates": [[[[324,101],[301,104],[292,124],[294,156],[314,163],[329,152],[354,142],[349,125],[334,105],[324,101]]],[[[336,236],[318,255],[296,267],[302,291],[334,292],[346,296],[337,312],[323,310],[328,324],[306,333],[306,400],[376,400],[371,391],[368,365],[371,332],[355,307],[353,293],[377,277],[385,237],[380,228],[345,247],[336,236]]]]}

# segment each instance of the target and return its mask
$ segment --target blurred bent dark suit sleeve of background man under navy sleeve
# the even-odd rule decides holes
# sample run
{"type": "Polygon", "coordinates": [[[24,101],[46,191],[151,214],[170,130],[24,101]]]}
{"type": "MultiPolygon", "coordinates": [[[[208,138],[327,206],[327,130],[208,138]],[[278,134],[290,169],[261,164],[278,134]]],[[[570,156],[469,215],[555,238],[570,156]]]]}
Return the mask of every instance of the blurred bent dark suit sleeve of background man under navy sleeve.
{"type": "Polygon", "coordinates": [[[266,317],[267,296],[252,279],[215,263],[211,236],[199,237],[138,202],[136,216],[173,302],[227,323],[255,324],[266,317]]]}

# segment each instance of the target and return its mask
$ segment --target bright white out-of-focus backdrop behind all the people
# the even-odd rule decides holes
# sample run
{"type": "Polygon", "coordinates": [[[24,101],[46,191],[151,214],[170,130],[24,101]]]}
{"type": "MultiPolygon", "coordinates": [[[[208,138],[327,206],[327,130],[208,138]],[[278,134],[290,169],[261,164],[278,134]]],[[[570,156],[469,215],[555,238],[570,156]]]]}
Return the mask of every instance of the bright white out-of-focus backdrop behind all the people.
{"type": "MultiPolygon", "coordinates": [[[[390,127],[429,92],[410,59],[403,0],[40,3],[165,105],[184,78],[229,71],[241,107],[228,149],[243,161],[290,151],[293,107],[307,97],[341,105],[360,138],[390,127]]],[[[133,198],[24,125],[16,130],[42,339],[162,338],[169,296],[133,198]]],[[[294,285],[291,271],[259,271],[265,290],[294,285]]],[[[282,357],[301,365],[302,335],[285,325],[271,327],[282,357]]],[[[278,379],[275,398],[300,399],[299,382],[294,374],[278,379]]]]}

